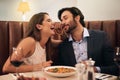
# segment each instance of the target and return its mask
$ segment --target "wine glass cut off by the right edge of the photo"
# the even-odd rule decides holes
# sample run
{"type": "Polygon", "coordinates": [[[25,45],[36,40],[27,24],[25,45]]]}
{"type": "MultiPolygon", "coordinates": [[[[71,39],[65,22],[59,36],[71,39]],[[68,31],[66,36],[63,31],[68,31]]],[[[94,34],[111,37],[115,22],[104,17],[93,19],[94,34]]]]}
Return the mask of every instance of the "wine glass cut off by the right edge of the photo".
{"type": "Polygon", "coordinates": [[[116,48],[114,61],[115,61],[116,65],[118,66],[118,69],[119,69],[117,80],[120,80],[120,47],[116,48]]]}

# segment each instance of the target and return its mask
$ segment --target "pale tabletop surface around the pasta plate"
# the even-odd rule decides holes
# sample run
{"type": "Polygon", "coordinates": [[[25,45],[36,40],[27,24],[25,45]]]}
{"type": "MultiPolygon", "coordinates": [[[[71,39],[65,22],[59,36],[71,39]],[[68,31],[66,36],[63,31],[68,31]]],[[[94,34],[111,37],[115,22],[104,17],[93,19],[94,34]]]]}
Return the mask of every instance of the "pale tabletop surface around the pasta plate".
{"type": "MultiPolygon", "coordinates": [[[[27,76],[27,77],[32,77],[32,76],[34,76],[34,77],[46,77],[47,80],[78,80],[77,73],[75,75],[65,77],[65,78],[58,78],[58,77],[49,76],[42,71],[26,72],[26,73],[21,73],[21,74],[23,74],[24,76],[27,76]]],[[[100,75],[102,75],[102,74],[96,73],[96,77],[99,77],[100,75]]],[[[116,76],[112,76],[110,78],[106,78],[106,79],[102,79],[102,80],[115,80],[115,79],[116,79],[116,76]]],[[[16,80],[16,79],[12,73],[9,73],[7,75],[0,76],[0,80],[16,80]]]]}

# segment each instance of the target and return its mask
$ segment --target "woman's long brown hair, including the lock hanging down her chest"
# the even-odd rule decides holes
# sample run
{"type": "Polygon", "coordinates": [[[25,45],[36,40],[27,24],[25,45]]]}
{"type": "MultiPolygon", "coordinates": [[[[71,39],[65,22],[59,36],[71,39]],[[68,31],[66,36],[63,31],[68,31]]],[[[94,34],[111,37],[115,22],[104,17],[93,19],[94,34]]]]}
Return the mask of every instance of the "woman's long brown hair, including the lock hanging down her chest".
{"type": "MultiPolygon", "coordinates": [[[[40,30],[37,29],[36,24],[41,24],[45,18],[45,15],[49,15],[46,12],[41,12],[38,14],[35,14],[32,16],[32,18],[30,19],[29,23],[28,23],[28,27],[26,30],[26,35],[25,37],[33,37],[36,41],[40,41],[41,40],[41,35],[40,35],[40,30]]],[[[46,43],[46,58],[47,60],[51,60],[52,59],[52,55],[53,55],[53,48],[51,47],[51,40],[49,38],[49,40],[46,43]]]]}

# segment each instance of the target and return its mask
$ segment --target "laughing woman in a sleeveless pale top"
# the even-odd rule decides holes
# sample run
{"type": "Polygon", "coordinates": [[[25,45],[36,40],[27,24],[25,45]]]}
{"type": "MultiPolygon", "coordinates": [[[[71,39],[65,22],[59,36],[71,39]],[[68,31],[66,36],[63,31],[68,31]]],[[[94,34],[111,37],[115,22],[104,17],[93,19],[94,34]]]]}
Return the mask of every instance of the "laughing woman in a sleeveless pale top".
{"type": "MultiPolygon", "coordinates": [[[[17,46],[17,48],[22,48],[22,58],[25,58],[24,64],[19,66],[17,72],[37,71],[41,70],[42,67],[51,66],[53,62],[50,60],[46,45],[49,45],[50,37],[55,33],[48,13],[41,12],[33,15],[26,34],[26,38],[17,46]]],[[[4,64],[3,72],[16,72],[15,67],[10,63],[10,58],[4,64]]]]}

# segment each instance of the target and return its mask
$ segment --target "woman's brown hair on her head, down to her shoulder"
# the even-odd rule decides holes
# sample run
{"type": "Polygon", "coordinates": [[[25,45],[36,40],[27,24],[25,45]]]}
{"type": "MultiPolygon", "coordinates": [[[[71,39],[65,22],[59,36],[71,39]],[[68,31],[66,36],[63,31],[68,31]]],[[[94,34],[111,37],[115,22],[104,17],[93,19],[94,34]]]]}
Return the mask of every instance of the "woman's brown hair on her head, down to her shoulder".
{"type": "Polygon", "coordinates": [[[32,16],[28,23],[25,37],[33,37],[36,41],[41,40],[40,30],[37,29],[36,24],[41,24],[44,20],[45,15],[48,15],[46,12],[41,12],[32,16]]]}

